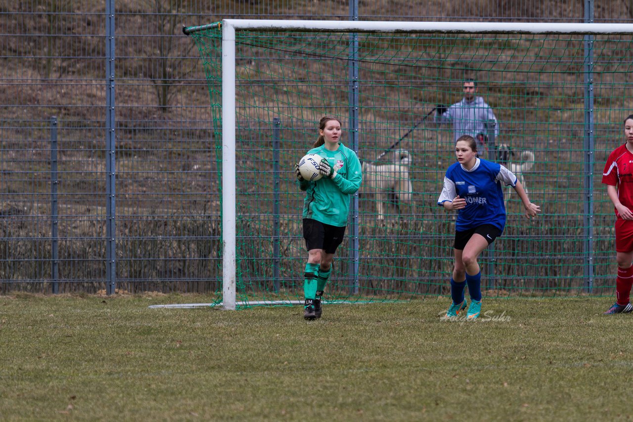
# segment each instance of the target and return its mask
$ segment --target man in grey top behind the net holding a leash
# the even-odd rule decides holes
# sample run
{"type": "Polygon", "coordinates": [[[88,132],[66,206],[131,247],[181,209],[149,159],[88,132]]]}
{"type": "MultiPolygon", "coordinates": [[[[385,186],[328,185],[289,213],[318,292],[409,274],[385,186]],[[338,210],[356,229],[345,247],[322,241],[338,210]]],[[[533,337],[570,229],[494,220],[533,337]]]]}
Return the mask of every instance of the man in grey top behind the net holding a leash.
{"type": "Polygon", "coordinates": [[[463,99],[448,108],[437,104],[436,121],[439,123],[451,121],[455,140],[461,135],[470,135],[477,140],[478,144],[483,142],[482,146],[487,147],[485,145],[488,141],[487,122],[494,121],[495,139],[499,136],[499,124],[490,106],[482,97],[477,97],[475,94],[477,94],[477,82],[474,79],[464,80],[463,99]]]}

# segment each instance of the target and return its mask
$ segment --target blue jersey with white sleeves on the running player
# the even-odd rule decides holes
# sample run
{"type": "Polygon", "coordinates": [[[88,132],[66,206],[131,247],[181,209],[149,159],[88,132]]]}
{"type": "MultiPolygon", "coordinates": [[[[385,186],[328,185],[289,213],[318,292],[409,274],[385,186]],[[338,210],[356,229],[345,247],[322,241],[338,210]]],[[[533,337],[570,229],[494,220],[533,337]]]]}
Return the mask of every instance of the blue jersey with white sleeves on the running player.
{"type": "Polygon", "coordinates": [[[453,201],[457,195],[466,199],[466,207],[459,210],[455,230],[463,232],[484,224],[491,224],[503,232],[506,207],[501,183],[514,186],[517,177],[501,164],[477,158],[472,169],[454,163],[444,177],[444,188],[438,205],[453,201]]]}

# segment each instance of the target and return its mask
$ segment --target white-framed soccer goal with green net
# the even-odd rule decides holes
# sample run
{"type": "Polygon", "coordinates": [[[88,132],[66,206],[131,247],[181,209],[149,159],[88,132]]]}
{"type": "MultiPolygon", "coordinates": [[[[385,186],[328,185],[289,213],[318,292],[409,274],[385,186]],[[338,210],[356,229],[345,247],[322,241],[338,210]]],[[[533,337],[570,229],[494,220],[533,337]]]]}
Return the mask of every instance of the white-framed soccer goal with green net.
{"type": "Polygon", "coordinates": [[[525,219],[508,192],[505,232],[480,260],[484,294],[612,294],[601,173],[633,111],[633,25],[229,19],[184,32],[213,106],[222,264],[210,278],[226,309],[302,298],[292,166],[323,115],[344,122],[364,173],[325,298],[446,294],[454,215],[436,201],[457,129],[437,112],[463,99],[465,80],[494,113],[480,152],[520,175],[543,210],[525,219]]]}

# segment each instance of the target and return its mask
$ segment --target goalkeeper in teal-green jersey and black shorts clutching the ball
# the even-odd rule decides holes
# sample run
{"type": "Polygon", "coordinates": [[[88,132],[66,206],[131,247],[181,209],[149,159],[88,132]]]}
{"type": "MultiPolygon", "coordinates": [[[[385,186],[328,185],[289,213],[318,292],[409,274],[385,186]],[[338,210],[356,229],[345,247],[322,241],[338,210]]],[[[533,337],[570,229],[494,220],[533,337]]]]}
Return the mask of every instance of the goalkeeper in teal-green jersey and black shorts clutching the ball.
{"type": "Polygon", "coordinates": [[[306,191],[303,203],[303,237],[308,249],[303,280],[306,320],[321,318],[321,297],[332,271],[334,252],[348,225],[349,197],[362,181],[356,152],[341,144],[341,120],[323,117],[318,133],[308,154],[321,156],[319,171],[323,177],[314,182],[305,180],[298,164],[294,165],[299,187],[306,191]]]}

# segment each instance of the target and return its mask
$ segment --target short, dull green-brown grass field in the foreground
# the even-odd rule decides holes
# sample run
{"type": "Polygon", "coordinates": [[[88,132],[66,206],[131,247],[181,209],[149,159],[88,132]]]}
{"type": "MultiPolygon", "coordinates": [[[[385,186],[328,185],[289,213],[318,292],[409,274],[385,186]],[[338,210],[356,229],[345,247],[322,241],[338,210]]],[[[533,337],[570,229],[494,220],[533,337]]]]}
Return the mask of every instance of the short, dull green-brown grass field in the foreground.
{"type": "Polygon", "coordinates": [[[150,309],[208,296],[0,297],[2,420],[630,420],[633,314],[611,299],[446,297],[150,309]],[[486,311],[488,313],[486,314],[486,311]]]}

